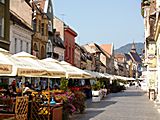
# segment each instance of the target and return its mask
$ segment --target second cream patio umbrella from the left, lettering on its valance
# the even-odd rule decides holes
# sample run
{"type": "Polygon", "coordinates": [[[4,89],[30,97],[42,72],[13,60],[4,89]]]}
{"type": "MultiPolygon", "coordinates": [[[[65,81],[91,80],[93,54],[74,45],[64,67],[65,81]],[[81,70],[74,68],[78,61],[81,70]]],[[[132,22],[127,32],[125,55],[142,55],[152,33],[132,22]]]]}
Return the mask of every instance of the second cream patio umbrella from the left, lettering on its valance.
{"type": "Polygon", "coordinates": [[[14,66],[17,69],[17,76],[24,77],[46,77],[47,70],[40,66],[35,61],[38,60],[35,56],[26,52],[20,52],[12,55],[14,66]]]}

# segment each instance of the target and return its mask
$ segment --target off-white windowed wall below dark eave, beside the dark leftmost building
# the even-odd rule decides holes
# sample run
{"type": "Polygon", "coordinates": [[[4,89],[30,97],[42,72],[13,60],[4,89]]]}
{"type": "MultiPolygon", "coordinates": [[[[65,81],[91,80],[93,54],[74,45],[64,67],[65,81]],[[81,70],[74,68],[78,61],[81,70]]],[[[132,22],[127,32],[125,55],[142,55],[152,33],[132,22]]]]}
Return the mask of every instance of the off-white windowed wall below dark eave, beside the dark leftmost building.
{"type": "Polygon", "coordinates": [[[25,51],[31,53],[31,31],[10,22],[10,52],[12,54],[25,51]]]}

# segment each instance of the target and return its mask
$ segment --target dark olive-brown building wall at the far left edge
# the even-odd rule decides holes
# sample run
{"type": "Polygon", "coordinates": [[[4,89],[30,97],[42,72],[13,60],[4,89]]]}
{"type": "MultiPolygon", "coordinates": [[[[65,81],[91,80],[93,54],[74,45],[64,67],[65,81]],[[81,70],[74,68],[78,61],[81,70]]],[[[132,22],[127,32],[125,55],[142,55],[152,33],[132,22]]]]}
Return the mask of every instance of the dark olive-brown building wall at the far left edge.
{"type": "Polygon", "coordinates": [[[0,17],[2,21],[0,47],[9,50],[9,0],[5,0],[5,3],[0,2],[0,17]]]}

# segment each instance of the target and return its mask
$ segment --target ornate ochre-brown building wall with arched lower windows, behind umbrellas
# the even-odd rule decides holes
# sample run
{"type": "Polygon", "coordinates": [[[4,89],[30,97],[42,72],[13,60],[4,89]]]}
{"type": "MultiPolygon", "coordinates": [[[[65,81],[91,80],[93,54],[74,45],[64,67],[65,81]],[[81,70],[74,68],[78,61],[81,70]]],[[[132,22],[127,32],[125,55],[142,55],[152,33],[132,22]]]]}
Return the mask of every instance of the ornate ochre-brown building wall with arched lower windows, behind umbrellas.
{"type": "Polygon", "coordinates": [[[48,19],[43,13],[37,10],[34,35],[32,38],[32,54],[40,59],[45,58],[46,46],[48,42],[48,19]],[[44,27],[42,26],[44,25],[44,27]],[[43,29],[42,29],[43,27],[43,29]],[[43,31],[42,31],[43,30],[43,31]]]}

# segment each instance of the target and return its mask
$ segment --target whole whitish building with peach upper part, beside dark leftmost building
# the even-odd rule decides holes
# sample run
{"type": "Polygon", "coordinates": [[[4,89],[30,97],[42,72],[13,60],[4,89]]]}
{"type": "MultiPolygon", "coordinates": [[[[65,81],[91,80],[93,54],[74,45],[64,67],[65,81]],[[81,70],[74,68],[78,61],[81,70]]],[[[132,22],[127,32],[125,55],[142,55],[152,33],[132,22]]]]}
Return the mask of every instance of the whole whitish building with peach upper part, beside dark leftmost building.
{"type": "Polygon", "coordinates": [[[10,1],[10,52],[31,53],[32,8],[25,0],[10,1]],[[18,6],[18,7],[17,7],[18,6]]]}

